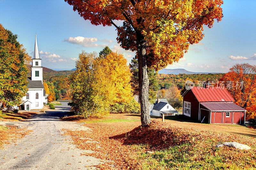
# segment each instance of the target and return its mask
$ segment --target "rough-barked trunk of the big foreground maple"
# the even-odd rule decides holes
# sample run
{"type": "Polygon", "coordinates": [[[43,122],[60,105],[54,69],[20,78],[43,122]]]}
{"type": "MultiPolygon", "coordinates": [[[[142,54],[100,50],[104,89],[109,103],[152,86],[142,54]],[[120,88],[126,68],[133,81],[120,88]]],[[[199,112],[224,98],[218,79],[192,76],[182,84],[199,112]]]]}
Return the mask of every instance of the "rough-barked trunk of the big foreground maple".
{"type": "Polygon", "coordinates": [[[150,122],[149,103],[148,103],[148,72],[147,72],[147,54],[146,42],[144,36],[137,34],[137,48],[138,48],[138,64],[139,64],[139,101],[140,101],[140,121],[141,126],[147,126],[150,122]]]}

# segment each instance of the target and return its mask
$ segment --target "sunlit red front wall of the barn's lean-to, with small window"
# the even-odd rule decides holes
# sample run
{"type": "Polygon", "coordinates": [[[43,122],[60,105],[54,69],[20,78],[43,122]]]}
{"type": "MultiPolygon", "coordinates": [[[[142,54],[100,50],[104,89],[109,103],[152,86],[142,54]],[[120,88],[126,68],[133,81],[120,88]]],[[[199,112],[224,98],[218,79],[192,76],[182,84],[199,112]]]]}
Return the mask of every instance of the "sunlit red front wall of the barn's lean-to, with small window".
{"type": "Polygon", "coordinates": [[[226,117],[226,112],[212,112],[212,123],[224,124],[244,124],[244,111],[243,112],[230,112],[229,117],[226,117]]]}

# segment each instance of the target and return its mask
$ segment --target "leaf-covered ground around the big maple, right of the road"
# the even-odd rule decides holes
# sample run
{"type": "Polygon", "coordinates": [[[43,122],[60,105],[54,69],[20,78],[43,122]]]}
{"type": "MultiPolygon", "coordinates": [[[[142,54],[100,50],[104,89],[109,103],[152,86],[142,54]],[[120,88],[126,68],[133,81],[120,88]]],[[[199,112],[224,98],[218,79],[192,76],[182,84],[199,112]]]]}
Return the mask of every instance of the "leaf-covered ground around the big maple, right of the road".
{"type": "Polygon", "coordinates": [[[78,148],[95,151],[86,155],[108,160],[98,166],[100,169],[256,168],[256,140],[253,137],[181,128],[158,120],[144,128],[136,122],[84,125],[92,131],[63,130],[78,148]],[[222,142],[239,142],[252,149],[215,148],[222,142]]]}

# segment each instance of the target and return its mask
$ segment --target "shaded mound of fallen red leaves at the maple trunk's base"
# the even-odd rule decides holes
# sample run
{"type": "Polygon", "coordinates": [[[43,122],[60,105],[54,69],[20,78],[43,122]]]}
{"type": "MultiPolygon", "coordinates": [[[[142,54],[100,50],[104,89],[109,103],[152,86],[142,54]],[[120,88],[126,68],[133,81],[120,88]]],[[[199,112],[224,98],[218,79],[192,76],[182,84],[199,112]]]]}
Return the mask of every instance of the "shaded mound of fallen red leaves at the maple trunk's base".
{"type": "Polygon", "coordinates": [[[109,137],[124,145],[148,145],[151,150],[167,149],[191,141],[193,135],[174,129],[166,123],[153,120],[148,127],[137,127],[127,133],[109,137]]]}

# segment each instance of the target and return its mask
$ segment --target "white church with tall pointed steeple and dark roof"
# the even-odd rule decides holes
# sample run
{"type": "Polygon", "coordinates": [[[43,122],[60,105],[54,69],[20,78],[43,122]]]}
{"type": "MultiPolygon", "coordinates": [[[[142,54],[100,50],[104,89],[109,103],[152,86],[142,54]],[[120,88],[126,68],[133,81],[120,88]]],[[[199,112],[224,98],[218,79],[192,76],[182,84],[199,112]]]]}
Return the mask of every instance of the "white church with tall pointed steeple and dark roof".
{"type": "Polygon", "coordinates": [[[28,92],[22,98],[20,104],[21,110],[42,109],[47,103],[47,94],[45,94],[43,84],[42,59],[39,58],[37,41],[35,41],[34,57],[32,58],[31,77],[27,78],[28,92]]]}

